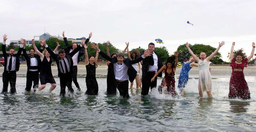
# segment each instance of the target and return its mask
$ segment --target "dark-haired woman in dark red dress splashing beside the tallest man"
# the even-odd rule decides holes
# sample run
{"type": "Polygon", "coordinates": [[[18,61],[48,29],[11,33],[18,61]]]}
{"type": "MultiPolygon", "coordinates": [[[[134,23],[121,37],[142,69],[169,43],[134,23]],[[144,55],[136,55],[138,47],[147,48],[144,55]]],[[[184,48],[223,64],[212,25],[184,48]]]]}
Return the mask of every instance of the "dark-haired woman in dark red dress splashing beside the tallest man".
{"type": "Polygon", "coordinates": [[[175,52],[174,55],[169,56],[166,60],[165,65],[162,66],[161,69],[158,70],[157,73],[154,75],[154,77],[151,79],[151,82],[153,82],[156,76],[159,73],[162,73],[162,71],[164,71],[164,78],[162,80],[161,86],[158,87],[160,94],[162,94],[163,88],[167,87],[166,89],[167,93],[171,94],[172,97],[176,96],[174,76],[175,76],[176,67],[178,65],[178,54],[179,54],[178,52],[175,52]]]}

